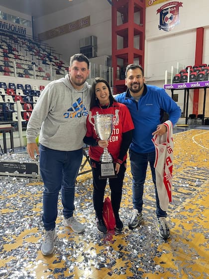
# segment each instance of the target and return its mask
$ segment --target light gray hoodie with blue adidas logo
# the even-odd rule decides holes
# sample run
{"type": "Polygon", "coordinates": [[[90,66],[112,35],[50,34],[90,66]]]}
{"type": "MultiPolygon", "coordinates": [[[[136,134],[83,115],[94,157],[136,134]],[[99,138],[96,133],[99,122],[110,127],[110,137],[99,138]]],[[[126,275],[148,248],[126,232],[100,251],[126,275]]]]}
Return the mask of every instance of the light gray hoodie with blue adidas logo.
{"type": "Polygon", "coordinates": [[[77,91],[69,75],[49,83],[36,103],[27,124],[27,142],[39,142],[51,149],[72,151],[83,147],[86,119],[90,110],[91,86],[85,82],[77,91]],[[41,128],[41,130],[40,130],[41,128]]]}

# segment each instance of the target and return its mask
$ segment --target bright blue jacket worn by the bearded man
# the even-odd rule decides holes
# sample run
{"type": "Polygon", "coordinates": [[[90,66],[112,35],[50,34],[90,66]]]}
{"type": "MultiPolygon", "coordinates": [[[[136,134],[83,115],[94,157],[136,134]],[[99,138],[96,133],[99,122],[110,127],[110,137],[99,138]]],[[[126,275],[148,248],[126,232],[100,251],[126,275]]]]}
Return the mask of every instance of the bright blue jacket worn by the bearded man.
{"type": "Polygon", "coordinates": [[[152,133],[161,124],[162,110],[168,113],[173,126],[181,116],[181,109],[163,88],[144,84],[144,91],[138,102],[126,92],[115,95],[114,99],[125,104],[131,114],[135,129],[133,130],[130,149],[137,153],[148,153],[155,150],[152,133]]]}

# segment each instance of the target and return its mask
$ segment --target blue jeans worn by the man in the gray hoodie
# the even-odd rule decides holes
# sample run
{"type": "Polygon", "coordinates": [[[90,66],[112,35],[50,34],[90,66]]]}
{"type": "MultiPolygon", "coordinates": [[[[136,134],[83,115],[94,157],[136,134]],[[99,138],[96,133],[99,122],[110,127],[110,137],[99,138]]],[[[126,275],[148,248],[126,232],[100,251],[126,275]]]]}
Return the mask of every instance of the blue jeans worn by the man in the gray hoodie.
{"type": "Polygon", "coordinates": [[[62,189],[63,215],[73,216],[75,181],[82,162],[83,148],[59,151],[40,144],[40,173],[44,182],[43,224],[46,231],[55,228],[59,191],[62,189]]]}

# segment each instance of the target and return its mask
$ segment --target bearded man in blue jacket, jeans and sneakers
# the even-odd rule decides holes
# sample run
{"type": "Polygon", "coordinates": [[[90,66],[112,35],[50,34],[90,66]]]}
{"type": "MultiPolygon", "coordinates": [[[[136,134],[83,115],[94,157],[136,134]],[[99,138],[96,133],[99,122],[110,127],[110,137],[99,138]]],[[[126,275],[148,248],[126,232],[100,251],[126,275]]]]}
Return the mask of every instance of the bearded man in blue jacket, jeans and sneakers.
{"type": "Polygon", "coordinates": [[[128,220],[130,228],[137,227],[143,220],[143,190],[148,162],[152,172],[156,195],[156,226],[162,238],[170,237],[170,229],[166,222],[167,213],[160,208],[156,189],[155,175],[155,146],[152,142],[154,135],[167,132],[161,124],[162,111],[169,115],[174,126],[181,116],[181,109],[162,88],[146,85],[144,70],[138,64],[130,64],[125,71],[125,85],[127,91],[114,96],[117,102],[125,104],[134,123],[132,142],[129,147],[131,173],[133,176],[132,201],[133,211],[128,220]]]}

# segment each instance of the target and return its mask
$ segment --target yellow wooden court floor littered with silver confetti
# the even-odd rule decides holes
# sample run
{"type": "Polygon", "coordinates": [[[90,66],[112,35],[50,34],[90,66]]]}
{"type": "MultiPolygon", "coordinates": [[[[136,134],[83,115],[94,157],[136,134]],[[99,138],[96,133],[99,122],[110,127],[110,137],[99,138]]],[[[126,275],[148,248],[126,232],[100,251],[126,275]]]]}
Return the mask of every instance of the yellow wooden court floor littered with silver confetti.
{"type": "MultiPolygon", "coordinates": [[[[77,178],[75,216],[84,234],[62,225],[59,200],[55,251],[40,252],[43,184],[30,178],[1,176],[0,278],[2,279],[208,279],[209,278],[209,131],[174,135],[171,237],[160,239],[155,227],[155,196],[148,169],[143,224],[129,230],[132,209],[128,162],[120,216],[122,233],[100,235],[95,227],[92,175],[77,178]]],[[[87,163],[84,170],[90,168],[87,163]]],[[[106,195],[109,188],[106,187],[106,195]]]]}

